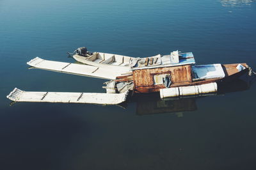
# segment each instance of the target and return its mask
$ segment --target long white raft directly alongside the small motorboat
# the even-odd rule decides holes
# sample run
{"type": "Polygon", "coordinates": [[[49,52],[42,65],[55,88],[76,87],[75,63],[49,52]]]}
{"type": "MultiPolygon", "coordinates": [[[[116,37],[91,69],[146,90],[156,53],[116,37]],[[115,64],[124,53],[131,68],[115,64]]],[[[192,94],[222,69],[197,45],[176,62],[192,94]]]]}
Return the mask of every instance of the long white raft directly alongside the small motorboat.
{"type": "Polygon", "coordinates": [[[116,79],[117,76],[124,73],[120,70],[111,70],[100,68],[98,66],[79,65],[60,61],[49,61],[38,57],[31,59],[31,61],[29,61],[27,64],[33,66],[34,68],[40,68],[43,70],[51,70],[54,72],[70,73],[74,75],[83,75],[109,80],[116,79]]]}

